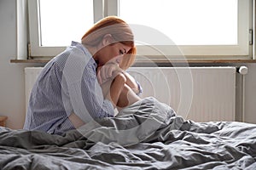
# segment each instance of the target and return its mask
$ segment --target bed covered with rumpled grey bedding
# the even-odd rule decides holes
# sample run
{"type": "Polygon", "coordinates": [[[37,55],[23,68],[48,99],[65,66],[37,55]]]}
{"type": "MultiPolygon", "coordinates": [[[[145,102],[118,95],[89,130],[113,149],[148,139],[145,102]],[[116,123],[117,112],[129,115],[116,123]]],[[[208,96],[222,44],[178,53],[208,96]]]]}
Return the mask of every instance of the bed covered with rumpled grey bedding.
{"type": "Polygon", "coordinates": [[[256,169],[256,125],[193,122],[146,98],[62,135],[0,128],[0,169],[256,169]]]}

